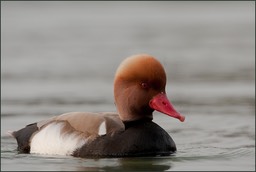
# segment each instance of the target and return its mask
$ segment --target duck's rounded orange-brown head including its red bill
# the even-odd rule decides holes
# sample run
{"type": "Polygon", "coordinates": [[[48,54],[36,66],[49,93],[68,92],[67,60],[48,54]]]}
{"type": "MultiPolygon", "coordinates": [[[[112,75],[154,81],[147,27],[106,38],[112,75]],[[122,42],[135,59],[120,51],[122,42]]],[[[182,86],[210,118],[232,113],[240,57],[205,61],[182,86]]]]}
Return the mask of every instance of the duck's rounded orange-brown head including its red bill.
{"type": "Polygon", "coordinates": [[[157,110],[184,121],[165,93],[166,74],[161,63],[147,54],[128,57],[118,67],[114,80],[115,103],[122,121],[153,119],[157,110]]]}

